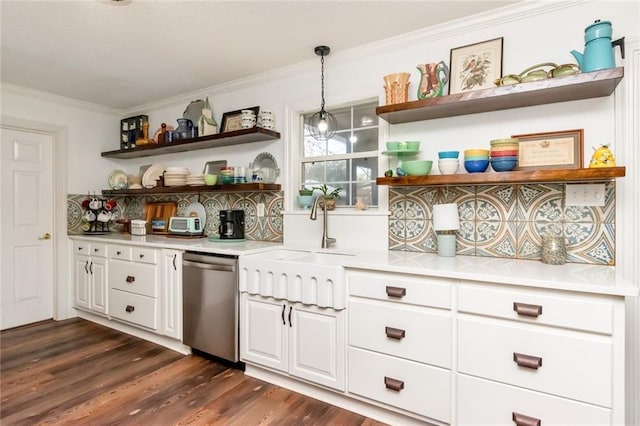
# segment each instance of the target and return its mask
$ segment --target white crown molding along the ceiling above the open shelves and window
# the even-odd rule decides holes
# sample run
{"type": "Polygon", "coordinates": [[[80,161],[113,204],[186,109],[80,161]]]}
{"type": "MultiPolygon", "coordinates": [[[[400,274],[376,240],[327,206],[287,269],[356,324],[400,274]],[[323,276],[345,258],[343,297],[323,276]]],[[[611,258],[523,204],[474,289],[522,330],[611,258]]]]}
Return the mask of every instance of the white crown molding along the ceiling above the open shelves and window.
{"type": "MultiPolygon", "coordinates": [[[[439,25],[412,31],[399,36],[368,43],[362,46],[346,49],[338,52],[331,52],[331,64],[341,65],[356,62],[362,59],[371,58],[380,54],[380,51],[393,51],[405,49],[407,47],[421,45],[434,40],[441,40],[464,33],[470,33],[485,28],[491,28],[499,24],[509,23],[525,19],[530,16],[547,14],[556,10],[571,8],[579,4],[592,3],[597,0],[562,0],[562,1],[539,1],[525,0],[513,5],[508,5],[488,12],[478,13],[470,17],[448,21],[439,25]]],[[[140,111],[160,109],[191,102],[193,99],[200,99],[205,96],[215,96],[229,93],[247,87],[268,84],[275,80],[282,80],[300,74],[316,72],[318,61],[313,52],[309,51],[310,59],[297,64],[270,70],[260,74],[228,81],[222,84],[209,86],[200,90],[192,91],[184,95],[163,99],[134,108],[122,111],[124,115],[135,115],[140,111]],[[311,57],[313,56],[313,57],[311,57]]]]}

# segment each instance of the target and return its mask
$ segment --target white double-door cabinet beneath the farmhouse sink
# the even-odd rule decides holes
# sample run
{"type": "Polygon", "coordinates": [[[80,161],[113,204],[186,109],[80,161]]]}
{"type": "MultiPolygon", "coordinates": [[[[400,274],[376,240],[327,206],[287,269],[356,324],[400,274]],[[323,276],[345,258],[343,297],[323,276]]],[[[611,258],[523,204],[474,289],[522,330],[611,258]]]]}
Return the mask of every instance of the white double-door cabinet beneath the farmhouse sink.
{"type": "Polygon", "coordinates": [[[243,361],[344,390],[344,311],[242,293],[240,326],[243,361]]]}

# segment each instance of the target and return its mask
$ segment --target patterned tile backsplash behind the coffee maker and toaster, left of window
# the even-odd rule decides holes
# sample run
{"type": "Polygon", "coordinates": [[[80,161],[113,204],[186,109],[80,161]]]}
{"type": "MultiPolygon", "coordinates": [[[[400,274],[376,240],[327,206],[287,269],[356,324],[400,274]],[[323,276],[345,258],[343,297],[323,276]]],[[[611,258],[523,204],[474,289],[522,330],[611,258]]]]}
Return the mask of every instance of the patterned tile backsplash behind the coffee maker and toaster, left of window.
{"type": "MultiPolygon", "coordinates": [[[[200,202],[207,213],[205,234],[218,233],[220,210],[239,209],[245,211],[245,238],[249,240],[282,242],[283,222],[282,192],[207,192],[185,194],[162,194],[136,197],[114,197],[118,203],[113,210],[116,219],[144,219],[144,206],[149,202],[175,202],[178,215],[183,215],[187,207],[200,202]],[[264,216],[258,217],[258,204],[264,204],[264,216]]],[[[86,194],[67,196],[67,232],[82,234],[82,201],[86,194]]],[[[120,231],[121,225],[113,224],[112,231],[120,231]]]]}

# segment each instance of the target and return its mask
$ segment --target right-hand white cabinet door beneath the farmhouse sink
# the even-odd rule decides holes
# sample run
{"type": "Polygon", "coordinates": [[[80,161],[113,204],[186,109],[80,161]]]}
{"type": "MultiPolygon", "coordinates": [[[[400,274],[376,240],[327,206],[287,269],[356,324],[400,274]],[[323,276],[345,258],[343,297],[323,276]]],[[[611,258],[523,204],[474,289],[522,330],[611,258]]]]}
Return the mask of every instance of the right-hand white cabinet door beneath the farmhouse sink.
{"type": "Polygon", "coordinates": [[[289,305],[289,373],[345,390],[344,311],[289,305]]]}

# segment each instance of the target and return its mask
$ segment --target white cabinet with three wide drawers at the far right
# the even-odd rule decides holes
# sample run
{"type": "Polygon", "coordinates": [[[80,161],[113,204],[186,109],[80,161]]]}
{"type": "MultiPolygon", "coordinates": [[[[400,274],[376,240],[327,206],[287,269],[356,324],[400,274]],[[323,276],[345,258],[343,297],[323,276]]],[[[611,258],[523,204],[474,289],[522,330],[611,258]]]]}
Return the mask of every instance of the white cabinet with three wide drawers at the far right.
{"type": "Polygon", "coordinates": [[[460,424],[624,424],[622,298],[463,282],[458,311],[460,424]]]}

